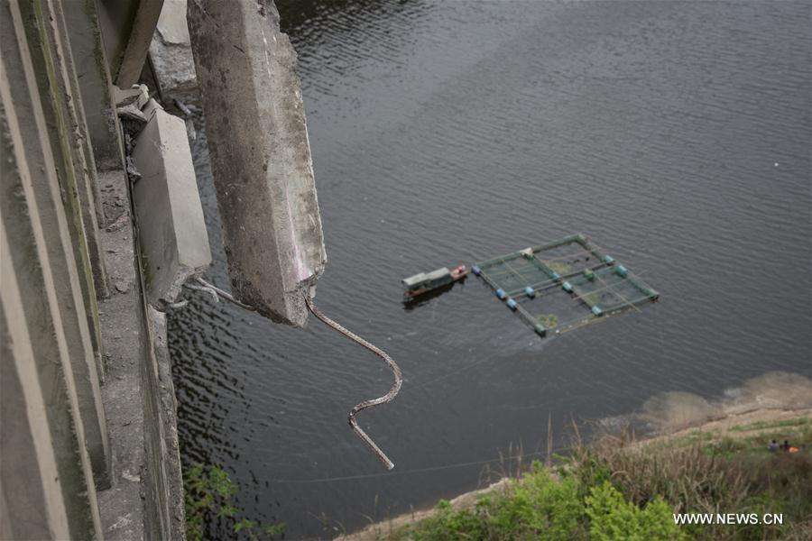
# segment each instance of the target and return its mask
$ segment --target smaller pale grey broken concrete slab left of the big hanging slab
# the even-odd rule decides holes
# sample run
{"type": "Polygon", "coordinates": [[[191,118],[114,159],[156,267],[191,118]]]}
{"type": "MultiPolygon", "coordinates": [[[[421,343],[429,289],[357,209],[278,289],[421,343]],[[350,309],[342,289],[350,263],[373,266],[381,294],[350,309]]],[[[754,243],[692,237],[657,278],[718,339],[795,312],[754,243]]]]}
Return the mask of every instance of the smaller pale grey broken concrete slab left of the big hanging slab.
{"type": "Polygon", "coordinates": [[[144,114],[150,120],[133,150],[142,178],[133,192],[147,293],[158,304],[161,299],[173,302],[184,281],[205,271],[211,252],[186,124],[154,100],[144,114]]]}

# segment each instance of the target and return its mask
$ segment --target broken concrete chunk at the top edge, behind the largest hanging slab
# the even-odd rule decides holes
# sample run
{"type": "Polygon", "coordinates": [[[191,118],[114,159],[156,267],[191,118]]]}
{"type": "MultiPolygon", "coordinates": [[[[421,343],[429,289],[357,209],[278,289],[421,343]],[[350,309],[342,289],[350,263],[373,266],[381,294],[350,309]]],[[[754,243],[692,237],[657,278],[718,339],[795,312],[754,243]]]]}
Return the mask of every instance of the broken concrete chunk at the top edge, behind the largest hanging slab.
{"type": "Polygon", "coordinates": [[[186,24],[186,0],[164,2],[152,35],[150,60],[164,103],[197,100],[198,78],[186,24]]]}

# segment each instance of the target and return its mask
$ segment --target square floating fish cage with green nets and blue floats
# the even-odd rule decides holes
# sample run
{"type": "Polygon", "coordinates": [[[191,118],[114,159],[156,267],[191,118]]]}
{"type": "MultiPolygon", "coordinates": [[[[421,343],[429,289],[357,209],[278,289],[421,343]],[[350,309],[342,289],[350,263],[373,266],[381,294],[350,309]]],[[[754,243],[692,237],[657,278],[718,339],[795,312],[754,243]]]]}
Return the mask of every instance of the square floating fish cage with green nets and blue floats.
{"type": "Polygon", "coordinates": [[[660,297],[582,234],[482,261],[471,271],[540,336],[595,323],[660,297]]]}

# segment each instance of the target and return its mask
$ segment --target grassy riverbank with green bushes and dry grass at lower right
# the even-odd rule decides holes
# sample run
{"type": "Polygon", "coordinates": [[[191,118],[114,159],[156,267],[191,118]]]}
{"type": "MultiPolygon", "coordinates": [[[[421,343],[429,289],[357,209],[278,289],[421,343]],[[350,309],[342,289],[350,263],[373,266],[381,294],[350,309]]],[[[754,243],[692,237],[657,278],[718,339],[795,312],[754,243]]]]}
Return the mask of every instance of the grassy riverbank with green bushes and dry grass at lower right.
{"type": "MultiPolygon", "coordinates": [[[[812,411],[738,416],[645,442],[628,433],[576,445],[428,518],[356,539],[812,539],[812,411]],[[770,453],[789,439],[798,453],[770,453]],[[760,524],[677,526],[674,513],[754,514],[760,524]],[[764,524],[765,513],[783,515],[764,524]]],[[[752,518],[748,518],[752,520],[752,518]]]]}

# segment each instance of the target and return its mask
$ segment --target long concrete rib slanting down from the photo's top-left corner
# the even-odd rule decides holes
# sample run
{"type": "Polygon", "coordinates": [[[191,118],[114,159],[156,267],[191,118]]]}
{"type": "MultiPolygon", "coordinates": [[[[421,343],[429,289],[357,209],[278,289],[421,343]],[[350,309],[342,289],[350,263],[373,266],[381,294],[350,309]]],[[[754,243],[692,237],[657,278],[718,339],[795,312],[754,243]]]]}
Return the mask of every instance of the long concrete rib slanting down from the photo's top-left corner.
{"type": "MultiPolygon", "coordinates": [[[[64,340],[69,354],[69,368],[78,399],[85,445],[93,466],[96,486],[109,486],[110,454],[105,412],[99,394],[98,361],[88,327],[87,306],[82,298],[77,262],[69,237],[68,218],[62,205],[59,181],[50,142],[45,136],[48,126],[42,113],[41,96],[29,61],[30,50],[20,27],[21,14],[14,3],[5,5],[8,19],[3,25],[3,74],[0,81],[7,117],[14,120],[19,148],[24,155],[24,170],[19,188],[26,206],[36,211],[42,228],[42,247],[49,258],[64,340]],[[15,28],[9,27],[14,22],[15,28]],[[16,84],[12,84],[14,80],[16,84]],[[19,84],[24,82],[25,84],[19,84]]],[[[21,166],[23,167],[23,166],[21,166]]],[[[12,208],[9,215],[17,209],[12,208]]],[[[32,214],[33,218],[33,214],[32,214]]]]}

